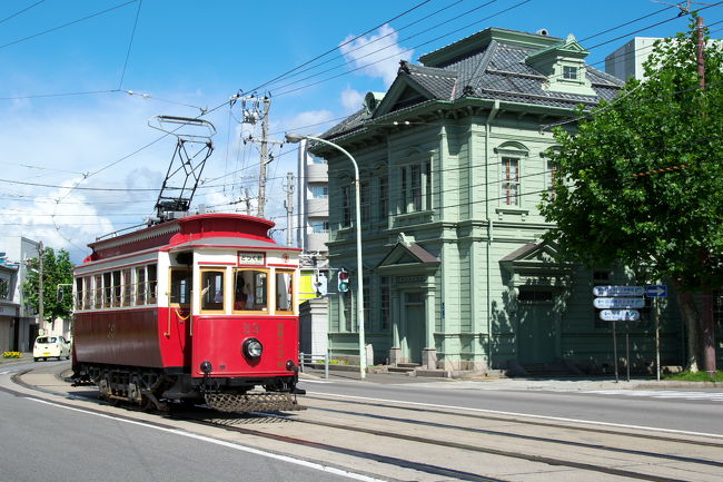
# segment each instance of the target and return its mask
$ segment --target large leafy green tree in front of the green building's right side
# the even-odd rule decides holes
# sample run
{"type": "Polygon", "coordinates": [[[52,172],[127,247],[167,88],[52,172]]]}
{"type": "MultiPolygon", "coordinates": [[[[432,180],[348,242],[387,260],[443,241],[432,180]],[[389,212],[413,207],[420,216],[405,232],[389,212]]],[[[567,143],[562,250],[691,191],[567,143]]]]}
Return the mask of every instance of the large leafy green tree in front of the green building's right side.
{"type": "MultiPolygon", "coordinates": [[[[694,17],[695,20],[695,17],[694,17]]],[[[702,361],[696,292],[723,284],[723,53],[705,48],[704,89],[697,32],[658,41],[647,80],[557,128],[556,180],[543,215],[546,236],[587,266],[622,263],[677,294],[689,340],[687,367],[702,361]]]]}

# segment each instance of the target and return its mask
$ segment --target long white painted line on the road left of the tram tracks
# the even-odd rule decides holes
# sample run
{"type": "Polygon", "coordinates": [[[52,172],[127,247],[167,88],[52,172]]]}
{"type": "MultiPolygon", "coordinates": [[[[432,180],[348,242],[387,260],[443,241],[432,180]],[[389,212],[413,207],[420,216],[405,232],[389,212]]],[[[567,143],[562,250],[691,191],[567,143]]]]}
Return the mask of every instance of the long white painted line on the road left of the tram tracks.
{"type": "Polygon", "coordinates": [[[196,439],[196,440],[199,440],[201,442],[208,442],[208,443],[212,443],[212,444],[216,444],[216,445],[221,445],[221,446],[225,446],[225,447],[228,447],[228,449],[238,450],[240,452],[252,453],[255,455],[261,455],[261,456],[266,456],[268,459],[276,459],[276,460],[293,463],[293,464],[296,464],[296,465],[306,466],[308,469],[314,469],[314,470],[319,470],[319,471],[323,471],[323,472],[333,473],[335,475],[343,475],[343,476],[347,476],[349,479],[367,481],[367,482],[384,482],[384,479],[374,479],[374,478],[368,476],[368,475],[363,475],[363,474],[355,473],[355,472],[348,472],[348,471],[345,471],[345,470],[341,470],[341,469],[336,469],[336,468],[333,468],[333,466],[321,465],[321,464],[314,463],[314,462],[308,462],[308,461],[305,461],[305,460],[298,460],[298,459],[294,459],[294,458],[290,458],[290,456],[287,456],[287,455],[279,455],[279,454],[276,454],[276,453],[265,452],[265,451],[259,450],[259,449],[251,449],[250,446],[239,445],[239,444],[236,444],[236,443],[232,443],[232,442],[225,442],[222,440],[216,440],[216,439],[212,439],[210,436],[198,435],[198,434],[190,433],[190,432],[185,432],[185,431],[181,431],[181,430],[178,430],[178,429],[166,429],[164,426],[156,426],[156,425],[152,425],[152,424],[149,424],[149,423],[146,423],[146,422],[138,422],[138,421],[135,421],[135,420],[118,419],[118,417],[115,417],[112,415],[106,415],[106,414],[102,414],[102,413],[89,412],[89,411],[83,410],[83,409],[77,409],[77,407],[72,407],[72,406],[60,405],[60,404],[57,404],[57,403],[53,403],[53,402],[48,402],[47,400],[34,399],[32,396],[26,396],[26,399],[31,400],[33,402],[44,403],[47,405],[57,406],[59,409],[66,409],[66,410],[70,410],[70,411],[73,411],[73,412],[80,412],[80,413],[85,413],[87,415],[96,415],[96,416],[99,416],[101,419],[109,419],[109,420],[112,420],[113,422],[126,422],[126,423],[129,423],[131,425],[145,426],[147,429],[155,429],[155,430],[158,430],[158,431],[161,431],[161,432],[172,433],[175,435],[186,436],[186,437],[189,437],[189,439],[196,439]]]}

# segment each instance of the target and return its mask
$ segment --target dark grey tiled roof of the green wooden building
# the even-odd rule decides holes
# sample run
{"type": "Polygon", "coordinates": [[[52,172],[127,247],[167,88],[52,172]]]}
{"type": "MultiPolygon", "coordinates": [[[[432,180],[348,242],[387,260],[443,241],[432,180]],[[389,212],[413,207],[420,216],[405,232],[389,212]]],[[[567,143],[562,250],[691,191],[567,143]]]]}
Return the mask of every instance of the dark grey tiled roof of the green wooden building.
{"type": "MultiPolygon", "coordinates": [[[[492,30],[506,31],[504,29],[492,30]]],[[[479,35],[485,32],[478,32],[467,39],[479,38],[479,35]]],[[[565,42],[563,39],[549,37],[541,40],[547,45],[565,42]]],[[[453,43],[435,52],[454,46],[453,43]]],[[[549,49],[549,47],[545,49],[549,49]]],[[[473,46],[459,58],[439,61],[436,67],[402,61],[392,89],[397,82],[407,82],[424,92],[424,96],[410,100],[407,105],[396,106],[390,112],[383,116],[375,116],[374,112],[361,109],[329,129],[323,137],[337,137],[363,130],[372,120],[379,121],[389,115],[397,116],[410,107],[419,107],[425,102],[454,101],[469,97],[572,110],[578,105],[595,106],[601,100],[611,100],[623,85],[620,79],[586,66],[587,80],[595,95],[547,90],[544,88],[547,81],[546,76],[525,61],[531,55],[543,49],[539,46],[506,41],[503,36],[499,39],[493,38],[486,45],[479,45],[478,48],[473,46]]],[[[423,59],[427,56],[423,56],[423,59]]]]}

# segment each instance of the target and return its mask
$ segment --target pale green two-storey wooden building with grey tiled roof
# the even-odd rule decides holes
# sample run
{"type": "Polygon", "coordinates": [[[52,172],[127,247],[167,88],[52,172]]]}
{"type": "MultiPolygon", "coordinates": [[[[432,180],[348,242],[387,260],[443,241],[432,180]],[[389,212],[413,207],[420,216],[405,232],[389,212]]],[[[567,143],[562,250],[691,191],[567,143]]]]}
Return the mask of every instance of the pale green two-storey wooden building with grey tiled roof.
{"type": "MultiPolygon", "coordinates": [[[[574,118],[578,105],[613,99],[622,85],[586,56],[572,36],[489,28],[423,56],[422,65],[400,62],[387,92],[367,94],[361,110],[324,134],[359,165],[365,329],[375,363],[610,368],[611,326],[593,308],[593,286],[626,284],[625,272],[555,264],[555,247],[539,242],[549,228],[538,214],[541,193],[555,175],[545,157],[554,138],[541,128],[574,118]]],[[[350,292],[329,296],[329,351],[351,358],[354,170],[338,150],[311,150],[329,167],[330,266],[353,274],[350,292]]],[[[680,363],[680,322],[671,316],[663,357],[680,363]]],[[[633,325],[631,360],[648,364],[650,314],[633,325]]]]}

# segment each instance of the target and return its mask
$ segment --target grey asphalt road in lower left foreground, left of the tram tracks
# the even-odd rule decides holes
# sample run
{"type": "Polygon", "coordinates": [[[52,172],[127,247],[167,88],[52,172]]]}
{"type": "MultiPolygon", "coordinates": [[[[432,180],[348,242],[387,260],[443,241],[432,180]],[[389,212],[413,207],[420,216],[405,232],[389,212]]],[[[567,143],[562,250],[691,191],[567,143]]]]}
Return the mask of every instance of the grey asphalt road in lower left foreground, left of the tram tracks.
{"type": "Polygon", "coordinates": [[[351,480],[306,465],[303,460],[254,453],[240,443],[170,429],[162,420],[131,421],[10,393],[8,372],[28,366],[24,362],[0,365],[2,481],[351,480]]]}

